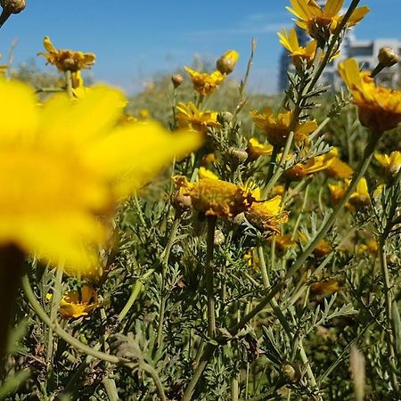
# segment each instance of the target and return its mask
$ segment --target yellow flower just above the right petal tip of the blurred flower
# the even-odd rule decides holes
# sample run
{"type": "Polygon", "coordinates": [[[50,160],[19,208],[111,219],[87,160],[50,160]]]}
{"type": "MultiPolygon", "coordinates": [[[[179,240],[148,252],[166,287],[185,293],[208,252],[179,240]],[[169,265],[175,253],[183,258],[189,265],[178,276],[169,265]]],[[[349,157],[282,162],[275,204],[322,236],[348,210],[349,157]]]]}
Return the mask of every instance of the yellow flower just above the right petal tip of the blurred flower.
{"type": "Polygon", "coordinates": [[[176,114],[178,127],[191,128],[204,135],[208,133],[210,127],[221,128],[221,124],[217,122],[216,111],[200,111],[192,102],[187,104],[179,102],[176,110],[178,111],[176,114]]]}

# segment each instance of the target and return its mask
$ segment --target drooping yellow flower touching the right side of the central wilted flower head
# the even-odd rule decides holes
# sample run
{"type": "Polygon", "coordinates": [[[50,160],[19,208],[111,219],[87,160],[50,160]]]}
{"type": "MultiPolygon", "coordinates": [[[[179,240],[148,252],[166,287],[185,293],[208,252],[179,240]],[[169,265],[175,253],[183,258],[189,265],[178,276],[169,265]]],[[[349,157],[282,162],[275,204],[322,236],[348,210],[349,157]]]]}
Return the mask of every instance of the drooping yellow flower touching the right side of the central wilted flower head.
{"type": "Polygon", "coordinates": [[[266,236],[280,233],[280,225],[288,220],[288,212],[282,211],[282,197],[276,195],[271,200],[260,201],[259,188],[253,191],[252,195],[256,201],[245,212],[250,224],[255,225],[266,236]]]}

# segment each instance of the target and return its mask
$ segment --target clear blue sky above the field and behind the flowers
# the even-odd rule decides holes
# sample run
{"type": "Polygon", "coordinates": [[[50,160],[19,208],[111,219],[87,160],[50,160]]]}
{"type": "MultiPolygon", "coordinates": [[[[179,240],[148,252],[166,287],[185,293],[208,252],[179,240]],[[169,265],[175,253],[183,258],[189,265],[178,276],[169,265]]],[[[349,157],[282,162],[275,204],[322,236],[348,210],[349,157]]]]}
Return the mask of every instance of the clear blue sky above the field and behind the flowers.
{"type": "MultiPolygon", "coordinates": [[[[94,78],[138,90],[156,73],[190,64],[195,54],[211,61],[228,49],[241,53],[235,74],[244,73],[250,39],[258,40],[251,86],[274,92],[281,47],[276,32],[291,27],[289,0],[27,0],[27,8],[6,22],[0,52],[13,39],[15,63],[37,59],[45,69],[45,35],[59,48],[97,54],[94,78]],[[113,5],[117,4],[117,5],[113,5]]],[[[348,1],[346,0],[346,4],[348,1]]],[[[401,0],[362,0],[371,8],[356,37],[401,39],[401,0]]]]}

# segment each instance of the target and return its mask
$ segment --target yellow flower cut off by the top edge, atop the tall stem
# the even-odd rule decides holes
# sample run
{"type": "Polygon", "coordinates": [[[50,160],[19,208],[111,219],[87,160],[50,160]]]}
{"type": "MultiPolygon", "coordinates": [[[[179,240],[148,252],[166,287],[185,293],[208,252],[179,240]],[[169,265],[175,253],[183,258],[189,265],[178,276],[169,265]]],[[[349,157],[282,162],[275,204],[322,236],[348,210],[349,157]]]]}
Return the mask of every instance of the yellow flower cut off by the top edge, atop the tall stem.
{"type": "MultiPolygon", "coordinates": [[[[344,15],[339,14],[342,4],[344,4],[344,0],[327,0],[322,9],[315,0],[291,0],[292,8],[286,8],[299,19],[296,21],[297,25],[306,29],[311,37],[317,40],[327,40],[344,18],[344,15]]],[[[351,14],[346,28],[356,25],[367,12],[369,12],[369,7],[356,8],[351,14]]]]}

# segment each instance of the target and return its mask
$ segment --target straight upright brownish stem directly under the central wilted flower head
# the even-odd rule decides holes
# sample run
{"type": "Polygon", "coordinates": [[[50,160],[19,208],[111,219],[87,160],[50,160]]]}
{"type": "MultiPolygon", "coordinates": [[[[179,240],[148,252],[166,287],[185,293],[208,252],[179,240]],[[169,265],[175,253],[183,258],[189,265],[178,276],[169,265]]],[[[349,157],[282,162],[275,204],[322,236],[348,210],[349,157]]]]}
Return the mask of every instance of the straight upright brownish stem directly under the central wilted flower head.
{"type": "Polygon", "coordinates": [[[216,311],[215,311],[215,294],[214,294],[214,266],[213,266],[213,250],[215,247],[215,228],[217,217],[208,217],[208,236],[206,239],[206,292],[208,297],[208,336],[213,339],[216,336],[216,311]]]}

